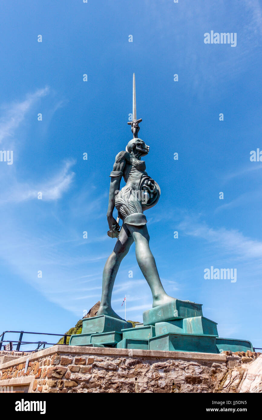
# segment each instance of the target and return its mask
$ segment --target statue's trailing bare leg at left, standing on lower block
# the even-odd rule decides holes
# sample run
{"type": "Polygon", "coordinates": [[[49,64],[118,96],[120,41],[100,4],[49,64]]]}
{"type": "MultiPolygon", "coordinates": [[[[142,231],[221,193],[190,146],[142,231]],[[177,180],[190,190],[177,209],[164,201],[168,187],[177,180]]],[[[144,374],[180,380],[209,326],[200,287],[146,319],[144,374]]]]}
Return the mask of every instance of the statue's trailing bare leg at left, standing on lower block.
{"type": "Polygon", "coordinates": [[[123,223],[118,239],[116,241],[116,246],[114,247],[114,251],[111,253],[111,255],[109,255],[103,270],[102,297],[97,315],[108,315],[113,318],[122,319],[119,317],[119,315],[116,314],[116,312],[114,312],[111,307],[111,296],[119,265],[122,259],[127,255],[127,252],[129,251],[133,242],[134,239],[130,234],[130,231],[123,223]]]}

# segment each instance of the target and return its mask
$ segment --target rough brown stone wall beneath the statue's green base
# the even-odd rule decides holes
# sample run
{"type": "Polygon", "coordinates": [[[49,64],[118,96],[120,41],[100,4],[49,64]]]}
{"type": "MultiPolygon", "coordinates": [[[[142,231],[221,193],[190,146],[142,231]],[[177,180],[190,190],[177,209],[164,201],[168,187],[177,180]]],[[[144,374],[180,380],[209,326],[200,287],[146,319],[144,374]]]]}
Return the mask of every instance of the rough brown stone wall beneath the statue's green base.
{"type": "MultiPolygon", "coordinates": [[[[3,353],[3,352],[2,352],[3,353]]],[[[9,355],[12,356],[12,355],[9,355]]],[[[56,345],[0,365],[0,386],[19,392],[262,392],[252,391],[252,375],[261,366],[257,353],[207,354],[56,345]],[[26,360],[28,368],[25,372],[26,360]]]]}

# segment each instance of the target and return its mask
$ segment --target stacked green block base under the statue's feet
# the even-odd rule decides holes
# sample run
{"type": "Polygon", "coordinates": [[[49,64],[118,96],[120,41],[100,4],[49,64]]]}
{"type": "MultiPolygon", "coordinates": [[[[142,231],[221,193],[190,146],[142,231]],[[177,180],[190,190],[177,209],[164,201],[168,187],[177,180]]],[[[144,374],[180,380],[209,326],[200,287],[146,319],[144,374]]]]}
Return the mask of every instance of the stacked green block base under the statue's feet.
{"type": "Polygon", "coordinates": [[[217,323],[205,318],[202,305],[175,299],[143,312],[143,324],[107,315],[83,319],[81,334],[72,335],[71,346],[118,349],[221,353],[254,351],[250,341],[220,338],[217,323]]]}

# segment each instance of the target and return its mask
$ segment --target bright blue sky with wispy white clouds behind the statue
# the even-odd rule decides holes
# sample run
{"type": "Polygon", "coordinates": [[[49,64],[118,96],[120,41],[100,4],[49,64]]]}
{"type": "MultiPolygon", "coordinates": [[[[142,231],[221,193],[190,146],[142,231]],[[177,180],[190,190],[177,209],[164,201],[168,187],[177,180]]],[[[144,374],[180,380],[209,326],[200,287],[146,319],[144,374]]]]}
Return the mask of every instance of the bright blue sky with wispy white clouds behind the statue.
{"type": "MultiPolygon", "coordinates": [[[[146,217],[163,285],[202,303],[220,336],[262,347],[262,163],[250,161],[262,149],[261,3],[14,0],[0,21],[0,148],[13,150],[13,165],[0,162],[0,330],[64,333],[100,299],[135,72],[161,187],[146,217]],[[236,32],[236,47],[204,44],[211,30],[236,32]],[[237,281],[205,280],[211,266],[236,268],[237,281]]],[[[113,292],[121,316],[125,294],[127,318],[141,321],[152,298],[134,246],[113,292]]]]}

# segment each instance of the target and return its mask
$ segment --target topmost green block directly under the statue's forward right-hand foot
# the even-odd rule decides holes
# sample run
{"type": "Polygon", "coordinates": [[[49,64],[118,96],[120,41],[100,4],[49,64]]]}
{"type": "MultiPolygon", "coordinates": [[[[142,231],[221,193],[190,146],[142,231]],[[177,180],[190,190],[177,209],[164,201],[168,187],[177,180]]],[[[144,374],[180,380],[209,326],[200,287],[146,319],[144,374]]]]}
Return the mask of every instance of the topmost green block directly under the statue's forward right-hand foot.
{"type": "Polygon", "coordinates": [[[174,299],[172,302],[143,312],[143,324],[155,325],[158,322],[198,316],[203,316],[201,304],[174,299]]]}

